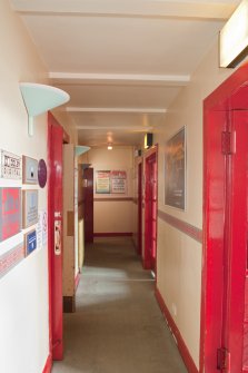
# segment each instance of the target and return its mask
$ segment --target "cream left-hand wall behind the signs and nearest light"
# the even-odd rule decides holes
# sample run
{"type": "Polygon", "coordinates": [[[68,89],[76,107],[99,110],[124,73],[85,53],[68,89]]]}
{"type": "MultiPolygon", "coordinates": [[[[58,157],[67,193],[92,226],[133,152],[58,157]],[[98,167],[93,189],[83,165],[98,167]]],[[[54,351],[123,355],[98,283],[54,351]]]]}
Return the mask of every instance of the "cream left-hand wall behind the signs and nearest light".
{"type": "MultiPolygon", "coordinates": [[[[8,0],[0,1],[0,149],[47,160],[47,116],[34,119],[30,138],[19,89],[19,81],[47,82],[47,70],[8,0]]],[[[21,186],[21,180],[0,179],[0,186],[21,186]]],[[[47,187],[34,188],[39,189],[39,209],[47,210],[47,187]]],[[[23,232],[0,243],[0,255],[20,242],[23,232]]],[[[49,354],[47,264],[44,245],[0,278],[0,372],[40,373],[44,367],[49,354]]]]}

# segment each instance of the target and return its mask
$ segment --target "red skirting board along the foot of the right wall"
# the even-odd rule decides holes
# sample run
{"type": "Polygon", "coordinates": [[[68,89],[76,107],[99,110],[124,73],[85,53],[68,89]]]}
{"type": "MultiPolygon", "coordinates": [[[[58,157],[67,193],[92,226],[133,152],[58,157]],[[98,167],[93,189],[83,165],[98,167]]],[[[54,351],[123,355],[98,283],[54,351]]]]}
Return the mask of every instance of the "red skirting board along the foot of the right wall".
{"type": "Polygon", "coordinates": [[[173,333],[173,336],[177,341],[177,345],[178,345],[178,350],[181,354],[181,357],[189,371],[189,373],[199,373],[198,369],[196,367],[196,364],[189,353],[189,350],[185,343],[185,341],[182,340],[182,336],[172,318],[172,316],[170,315],[170,312],[169,310],[167,308],[166,306],[166,303],[159,292],[159,289],[156,287],[155,289],[155,296],[158,301],[158,304],[159,304],[159,307],[163,314],[163,316],[166,317],[167,322],[168,322],[168,325],[169,327],[171,328],[171,332],[173,333]]]}

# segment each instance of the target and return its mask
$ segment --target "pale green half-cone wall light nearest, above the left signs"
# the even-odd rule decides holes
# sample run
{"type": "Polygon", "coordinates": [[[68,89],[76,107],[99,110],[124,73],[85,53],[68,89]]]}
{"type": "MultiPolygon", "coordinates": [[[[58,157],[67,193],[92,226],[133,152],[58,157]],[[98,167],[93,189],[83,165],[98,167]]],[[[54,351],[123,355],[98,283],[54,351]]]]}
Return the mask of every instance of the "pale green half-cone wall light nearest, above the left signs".
{"type": "Polygon", "coordinates": [[[54,109],[70,99],[62,89],[34,82],[21,82],[20,90],[29,116],[29,136],[33,136],[33,117],[54,109]]]}

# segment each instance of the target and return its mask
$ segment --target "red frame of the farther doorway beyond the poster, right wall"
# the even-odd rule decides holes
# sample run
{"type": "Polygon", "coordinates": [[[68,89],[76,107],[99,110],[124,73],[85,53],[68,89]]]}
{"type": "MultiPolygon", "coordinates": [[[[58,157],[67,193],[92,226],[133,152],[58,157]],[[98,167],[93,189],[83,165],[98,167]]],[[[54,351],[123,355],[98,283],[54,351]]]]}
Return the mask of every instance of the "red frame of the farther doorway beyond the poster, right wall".
{"type": "Polygon", "coordinates": [[[157,272],[157,220],[158,220],[158,145],[151,147],[145,155],[145,251],[143,251],[143,268],[152,269],[155,273],[157,272]],[[151,188],[150,188],[150,165],[149,161],[152,160],[157,167],[156,175],[156,234],[155,234],[155,245],[156,245],[156,254],[155,258],[151,257],[150,254],[150,239],[152,238],[152,212],[150,209],[149,200],[152,198],[151,188]],[[155,259],[155,263],[153,263],[155,259]]]}

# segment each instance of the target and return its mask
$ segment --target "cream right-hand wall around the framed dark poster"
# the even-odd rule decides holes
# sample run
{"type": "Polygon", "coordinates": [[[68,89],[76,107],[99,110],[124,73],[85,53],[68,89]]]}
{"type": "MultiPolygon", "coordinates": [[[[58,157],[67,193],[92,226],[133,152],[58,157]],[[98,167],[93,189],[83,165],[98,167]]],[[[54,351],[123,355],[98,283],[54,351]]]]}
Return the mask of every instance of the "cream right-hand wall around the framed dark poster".
{"type": "MultiPolygon", "coordinates": [[[[234,70],[218,68],[218,41],[191,76],[155,134],[159,145],[158,209],[202,228],[202,100],[234,70]],[[187,136],[186,210],[165,206],[165,145],[180,128],[187,136]]],[[[158,218],[157,286],[199,366],[202,245],[158,218]]]]}

